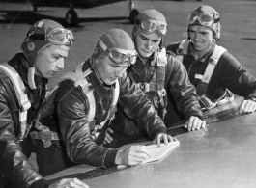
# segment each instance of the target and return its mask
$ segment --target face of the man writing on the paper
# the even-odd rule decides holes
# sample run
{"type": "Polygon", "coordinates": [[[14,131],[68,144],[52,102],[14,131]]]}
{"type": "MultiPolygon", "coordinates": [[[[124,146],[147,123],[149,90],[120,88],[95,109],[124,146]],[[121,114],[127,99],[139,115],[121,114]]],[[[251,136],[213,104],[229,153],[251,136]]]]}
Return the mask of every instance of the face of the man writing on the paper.
{"type": "Polygon", "coordinates": [[[119,77],[122,77],[128,67],[128,61],[124,61],[122,64],[115,64],[107,56],[100,57],[96,66],[101,81],[106,85],[114,84],[119,77]]]}

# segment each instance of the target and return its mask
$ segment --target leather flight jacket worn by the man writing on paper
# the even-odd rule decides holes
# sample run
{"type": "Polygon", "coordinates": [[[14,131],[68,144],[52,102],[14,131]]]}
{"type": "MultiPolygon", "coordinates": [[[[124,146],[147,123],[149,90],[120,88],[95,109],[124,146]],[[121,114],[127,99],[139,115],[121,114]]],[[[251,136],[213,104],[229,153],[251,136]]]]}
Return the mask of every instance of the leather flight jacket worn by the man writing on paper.
{"type": "MultiPolygon", "coordinates": [[[[84,63],[83,71],[91,68],[89,60],[84,63]]],[[[113,98],[114,85],[106,86],[100,82],[95,72],[86,77],[91,83],[96,103],[95,123],[104,120],[113,98]]],[[[166,133],[163,121],[157,116],[154,106],[146,95],[128,77],[127,72],[119,78],[120,94],[118,104],[127,116],[142,124],[143,129],[151,138],[159,133],[166,133]]],[[[77,164],[89,164],[97,167],[109,168],[115,166],[117,149],[103,148],[100,145],[104,140],[106,123],[100,131],[98,141],[91,138],[95,129],[88,121],[89,100],[81,87],[74,87],[73,81],[65,80],[57,89],[55,96],[58,128],[63,137],[67,153],[71,160],[77,164]]],[[[112,113],[111,113],[112,114],[112,113]]]]}

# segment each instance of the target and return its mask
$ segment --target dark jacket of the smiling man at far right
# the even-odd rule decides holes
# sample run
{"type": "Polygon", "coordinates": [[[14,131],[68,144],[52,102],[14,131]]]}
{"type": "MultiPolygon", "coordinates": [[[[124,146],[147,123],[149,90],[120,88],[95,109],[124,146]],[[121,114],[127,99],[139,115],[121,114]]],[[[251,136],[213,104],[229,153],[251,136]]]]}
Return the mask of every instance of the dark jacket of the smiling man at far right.
{"type": "MultiPolygon", "coordinates": [[[[180,42],[175,42],[168,45],[167,51],[176,56],[179,44],[180,42]]],[[[183,64],[188,72],[189,80],[197,87],[208,67],[215,44],[199,60],[195,60],[193,57],[191,47],[191,44],[189,44],[187,54],[183,58],[183,64]]],[[[229,52],[224,52],[214,68],[206,95],[215,103],[219,98],[229,95],[226,94],[227,89],[233,94],[243,96],[244,99],[256,101],[256,78],[244,69],[229,52]]]]}

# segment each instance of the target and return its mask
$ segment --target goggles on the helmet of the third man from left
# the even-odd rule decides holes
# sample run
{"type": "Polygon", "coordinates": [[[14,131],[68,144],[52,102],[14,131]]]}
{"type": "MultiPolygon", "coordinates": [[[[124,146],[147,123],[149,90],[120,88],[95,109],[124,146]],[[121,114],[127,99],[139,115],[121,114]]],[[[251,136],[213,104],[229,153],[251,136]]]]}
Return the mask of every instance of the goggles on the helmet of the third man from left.
{"type": "Polygon", "coordinates": [[[151,34],[154,31],[157,31],[160,36],[164,36],[168,29],[168,25],[166,23],[161,23],[155,20],[140,21],[139,19],[136,19],[135,24],[139,25],[141,30],[143,30],[145,33],[151,34]]]}

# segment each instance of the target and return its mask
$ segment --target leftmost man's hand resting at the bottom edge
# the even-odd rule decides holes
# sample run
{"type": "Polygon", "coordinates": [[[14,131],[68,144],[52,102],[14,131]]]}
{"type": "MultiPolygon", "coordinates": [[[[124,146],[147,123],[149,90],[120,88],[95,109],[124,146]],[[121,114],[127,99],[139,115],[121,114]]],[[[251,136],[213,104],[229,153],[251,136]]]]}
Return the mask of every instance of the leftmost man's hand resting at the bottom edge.
{"type": "Polygon", "coordinates": [[[89,188],[84,182],[77,178],[64,178],[49,186],[49,188],[89,188]]]}

